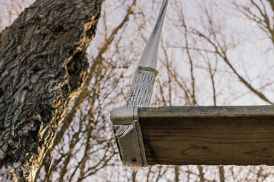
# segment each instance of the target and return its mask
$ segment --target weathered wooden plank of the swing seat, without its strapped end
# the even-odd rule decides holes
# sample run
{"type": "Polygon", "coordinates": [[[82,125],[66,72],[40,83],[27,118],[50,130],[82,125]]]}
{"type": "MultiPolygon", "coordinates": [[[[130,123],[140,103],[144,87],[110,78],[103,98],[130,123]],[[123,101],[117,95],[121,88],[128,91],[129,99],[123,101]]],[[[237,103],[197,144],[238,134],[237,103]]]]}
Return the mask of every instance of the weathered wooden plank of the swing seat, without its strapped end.
{"type": "Polygon", "coordinates": [[[274,106],[139,108],[147,162],[274,165],[274,106]]]}

